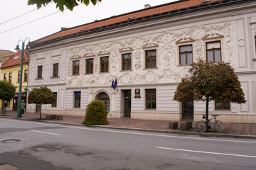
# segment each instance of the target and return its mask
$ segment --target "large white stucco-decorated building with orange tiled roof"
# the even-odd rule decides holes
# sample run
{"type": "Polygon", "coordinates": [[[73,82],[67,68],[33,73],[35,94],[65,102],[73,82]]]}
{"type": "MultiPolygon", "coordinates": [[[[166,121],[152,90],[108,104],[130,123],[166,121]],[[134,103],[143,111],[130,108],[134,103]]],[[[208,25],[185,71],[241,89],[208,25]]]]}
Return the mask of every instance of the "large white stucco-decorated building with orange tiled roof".
{"type": "MultiPolygon", "coordinates": [[[[101,99],[109,118],[201,120],[204,102],[176,102],[189,64],[230,62],[247,103],[212,101],[210,114],[256,123],[256,4],[252,0],[182,0],[63,29],[31,43],[29,89],[57,96],[43,113],[85,115],[101,99]],[[117,79],[117,90],[112,89],[117,79]]],[[[27,111],[35,112],[29,104],[27,111]]]]}

